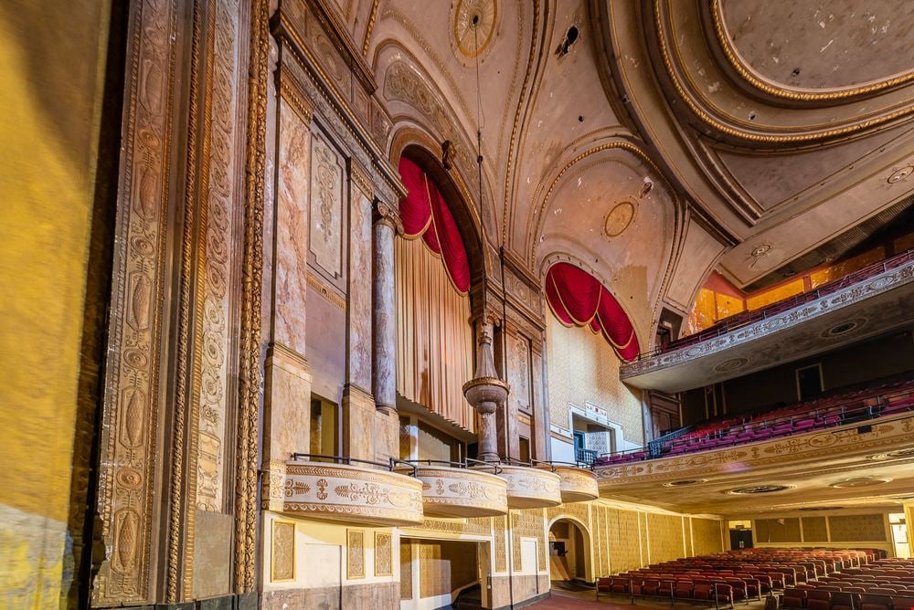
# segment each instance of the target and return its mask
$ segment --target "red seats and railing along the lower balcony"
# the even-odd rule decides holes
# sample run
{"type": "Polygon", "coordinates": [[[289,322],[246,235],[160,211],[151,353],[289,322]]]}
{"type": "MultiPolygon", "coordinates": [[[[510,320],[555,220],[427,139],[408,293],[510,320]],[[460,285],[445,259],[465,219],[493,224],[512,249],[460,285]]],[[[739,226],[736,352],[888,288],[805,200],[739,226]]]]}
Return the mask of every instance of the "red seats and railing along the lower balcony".
{"type": "Polygon", "coordinates": [[[600,456],[595,466],[664,458],[792,436],[874,417],[914,410],[914,371],[890,381],[785,406],[760,415],[741,415],[710,422],[656,444],[651,451],[600,456]]]}

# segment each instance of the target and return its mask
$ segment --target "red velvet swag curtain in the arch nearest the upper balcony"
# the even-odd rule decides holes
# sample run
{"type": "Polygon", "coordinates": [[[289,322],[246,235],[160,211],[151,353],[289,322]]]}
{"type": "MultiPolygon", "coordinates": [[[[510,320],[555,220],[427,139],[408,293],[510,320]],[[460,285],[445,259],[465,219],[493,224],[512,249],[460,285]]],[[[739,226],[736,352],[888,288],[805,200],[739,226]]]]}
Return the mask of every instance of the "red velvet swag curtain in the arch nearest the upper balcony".
{"type": "Polygon", "coordinates": [[[587,271],[569,263],[556,263],[546,274],[546,300],[566,326],[590,326],[602,333],[624,361],[640,352],[638,337],[619,301],[587,271]]]}

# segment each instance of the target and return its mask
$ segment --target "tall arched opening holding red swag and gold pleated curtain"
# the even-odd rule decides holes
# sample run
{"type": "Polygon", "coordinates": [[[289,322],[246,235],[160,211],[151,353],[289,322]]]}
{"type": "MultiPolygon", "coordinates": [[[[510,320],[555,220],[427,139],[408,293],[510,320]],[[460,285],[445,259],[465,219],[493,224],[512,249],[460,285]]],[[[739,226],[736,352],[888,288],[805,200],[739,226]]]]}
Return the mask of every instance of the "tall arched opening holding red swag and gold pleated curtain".
{"type": "Polygon", "coordinates": [[[473,375],[470,291],[482,275],[479,239],[437,158],[409,146],[398,165],[408,191],[394,244],[399,457],[462,461],[476,428],[462,384],[473,375]]]}

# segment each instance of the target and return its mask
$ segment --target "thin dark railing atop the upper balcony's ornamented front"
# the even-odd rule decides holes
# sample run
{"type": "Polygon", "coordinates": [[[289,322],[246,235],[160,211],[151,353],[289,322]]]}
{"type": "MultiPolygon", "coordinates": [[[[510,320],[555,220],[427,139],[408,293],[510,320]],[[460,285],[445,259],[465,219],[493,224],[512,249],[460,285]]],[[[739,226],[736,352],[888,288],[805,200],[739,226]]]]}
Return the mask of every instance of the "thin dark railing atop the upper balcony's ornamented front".
{"type": "Polygon", "coordinates": [[[810,290],[809,292],[802,292],[788,299],[776,301],[760,310],[743,311],[736,315],[730,316],[723,321],[717,322],[717,324],[705,329],[704,331],[696,332],[696,334],[688,335],[682,339],[676,339],[675,341],[671,341],[662,347],[655,348],[654,350],[641,352],[634,358],[632,362],[639,362],[648,358],[653,358],[660,353],[673,352],[674,350],[678,350],[689,345],[694,345],[695,343],[705,342],[708,339],[715,339],[723,334],[736,331],[749,324],[767,320],[773,315],[779,314],[786,310],[791,310],[794,307],[804,303],[808,303],[810,301],[832,294],[837,290],[845,289],[863,279],[869,279],[873,276],[878,275],[879,273],[885,273],[888,269],[896,268],[899,265],[908,262],[909,260],[914,260],[914,248],[906,250],[901,254],[897,254],[894,257],[886,258],[880,262],[873,263],[872,265],[867,265],[865,268],[857,269],[853,273],[848,273],[844,278],[835,279],[834,281],[823,284],[819,288],[810,290]]]}

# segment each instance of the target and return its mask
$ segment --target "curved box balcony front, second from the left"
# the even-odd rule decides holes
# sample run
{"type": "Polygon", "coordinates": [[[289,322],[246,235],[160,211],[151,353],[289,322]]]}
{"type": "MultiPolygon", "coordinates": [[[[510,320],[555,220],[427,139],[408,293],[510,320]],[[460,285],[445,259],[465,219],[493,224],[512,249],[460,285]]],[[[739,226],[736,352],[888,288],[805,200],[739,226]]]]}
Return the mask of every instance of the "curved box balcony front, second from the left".
{"type": "Polygon", "coordinates": [[[508,511],[507,481],[491,472],[435,460],[420,460],[415,468],[428,517],[492,517],[508,511]]]}

